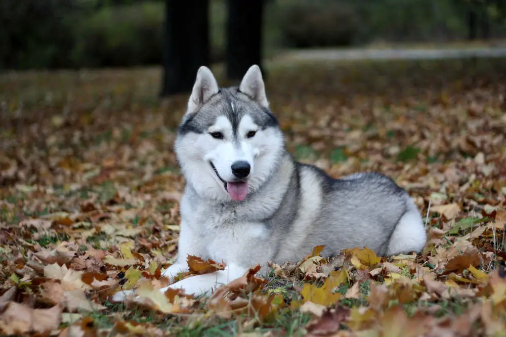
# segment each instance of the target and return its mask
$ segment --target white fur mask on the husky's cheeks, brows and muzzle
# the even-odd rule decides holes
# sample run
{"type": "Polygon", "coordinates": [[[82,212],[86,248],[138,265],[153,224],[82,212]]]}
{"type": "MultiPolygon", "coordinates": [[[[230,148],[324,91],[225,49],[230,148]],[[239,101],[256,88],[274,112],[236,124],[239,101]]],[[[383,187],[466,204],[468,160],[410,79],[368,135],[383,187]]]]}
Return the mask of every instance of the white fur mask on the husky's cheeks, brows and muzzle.
{"type": "Polygon", "coordinates": [[[273,173],[283,149],[283,136],[279,130],[261,130],[251,117],[244,116],[239,123],[240,147],[235,148],[229,140],[232,125],[226,117],[218,117],[209,132],[220,131],[224,139],[214,139],[209,134],[189,133],[176,142],[176,152],[181,171],[197,193],[208,199],[230,201],[223,183],[218,179],[209,161],[213,161],[218,173],[225,181],[232,181],[232,163],[237,160],[249,162],[248,193],[254,193],[273,173]],[[257,131],[255,137],[246,138],[249,131],[257,131]]]}

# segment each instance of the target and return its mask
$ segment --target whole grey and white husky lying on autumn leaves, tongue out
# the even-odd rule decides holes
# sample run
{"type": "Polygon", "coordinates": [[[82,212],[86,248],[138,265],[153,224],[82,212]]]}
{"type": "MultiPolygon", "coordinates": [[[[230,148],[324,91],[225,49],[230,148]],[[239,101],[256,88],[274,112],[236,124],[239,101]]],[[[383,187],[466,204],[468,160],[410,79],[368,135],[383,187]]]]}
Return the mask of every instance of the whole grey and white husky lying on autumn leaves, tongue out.
{"type": "MultiPolygon", "coordinates": [[[[175,143],[186,186],[178,257],[163,275],[188,271],[188,255],[224,261],[225,270],[170,285],[213,288],[269,261],[297,262],[368,247],[378,256],[420,252],[423,219],[408,193],[379,173],[333,179],[294,160],[269,109],[262,72],[252,65],[239,87],[220,88],[201,66],[175,143]]],[[[160,289],[165,291],[167,288],[160,289]]]]}

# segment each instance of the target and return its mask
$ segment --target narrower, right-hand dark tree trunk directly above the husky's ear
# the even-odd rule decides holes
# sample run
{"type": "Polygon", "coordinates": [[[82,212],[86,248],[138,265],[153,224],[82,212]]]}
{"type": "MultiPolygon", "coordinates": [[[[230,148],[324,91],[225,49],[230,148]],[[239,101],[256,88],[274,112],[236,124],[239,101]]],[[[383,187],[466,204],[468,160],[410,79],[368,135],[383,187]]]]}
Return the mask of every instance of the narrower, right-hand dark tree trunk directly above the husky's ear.
{"type": "Polygon", "coordinates": [[[231,80],[240,80],[253,64],[262,69],[264,1],[228,0],[226,69],[231,80]]]}

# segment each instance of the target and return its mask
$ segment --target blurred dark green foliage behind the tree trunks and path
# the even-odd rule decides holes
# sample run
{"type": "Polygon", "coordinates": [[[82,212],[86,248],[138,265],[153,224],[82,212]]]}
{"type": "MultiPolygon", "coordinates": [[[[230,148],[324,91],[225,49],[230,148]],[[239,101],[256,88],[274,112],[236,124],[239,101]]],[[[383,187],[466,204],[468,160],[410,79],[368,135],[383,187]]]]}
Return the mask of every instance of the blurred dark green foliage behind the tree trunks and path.
{"type": "MultiPolygon", "coordinates": [[[[480,19],[478,25],[488,24],[489,37],[506,36],[505,2],[475,3],[273,0],[265,11],[265,51],[268,56],[293,47],[465,39],[472,6],[480,19]]],[[[0,68],[160,64],[163,6],[162,1],[150,0],[3,0],[0,68]]],[[[212,0],[213,61],[224,56],[226,17],[226,2],[212,0]]]]}

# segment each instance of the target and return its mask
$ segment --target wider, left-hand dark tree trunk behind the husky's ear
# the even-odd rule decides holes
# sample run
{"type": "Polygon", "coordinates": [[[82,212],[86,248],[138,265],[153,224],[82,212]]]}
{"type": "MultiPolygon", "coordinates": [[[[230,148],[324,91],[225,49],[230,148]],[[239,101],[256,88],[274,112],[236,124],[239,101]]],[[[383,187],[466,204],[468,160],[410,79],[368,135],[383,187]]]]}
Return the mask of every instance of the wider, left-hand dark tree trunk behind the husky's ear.
{"type": "Polygon", "coordinates": [[[191,91],[197,70],[209,64],[208,0],[165,0],[161,96],[191,91]]]}

